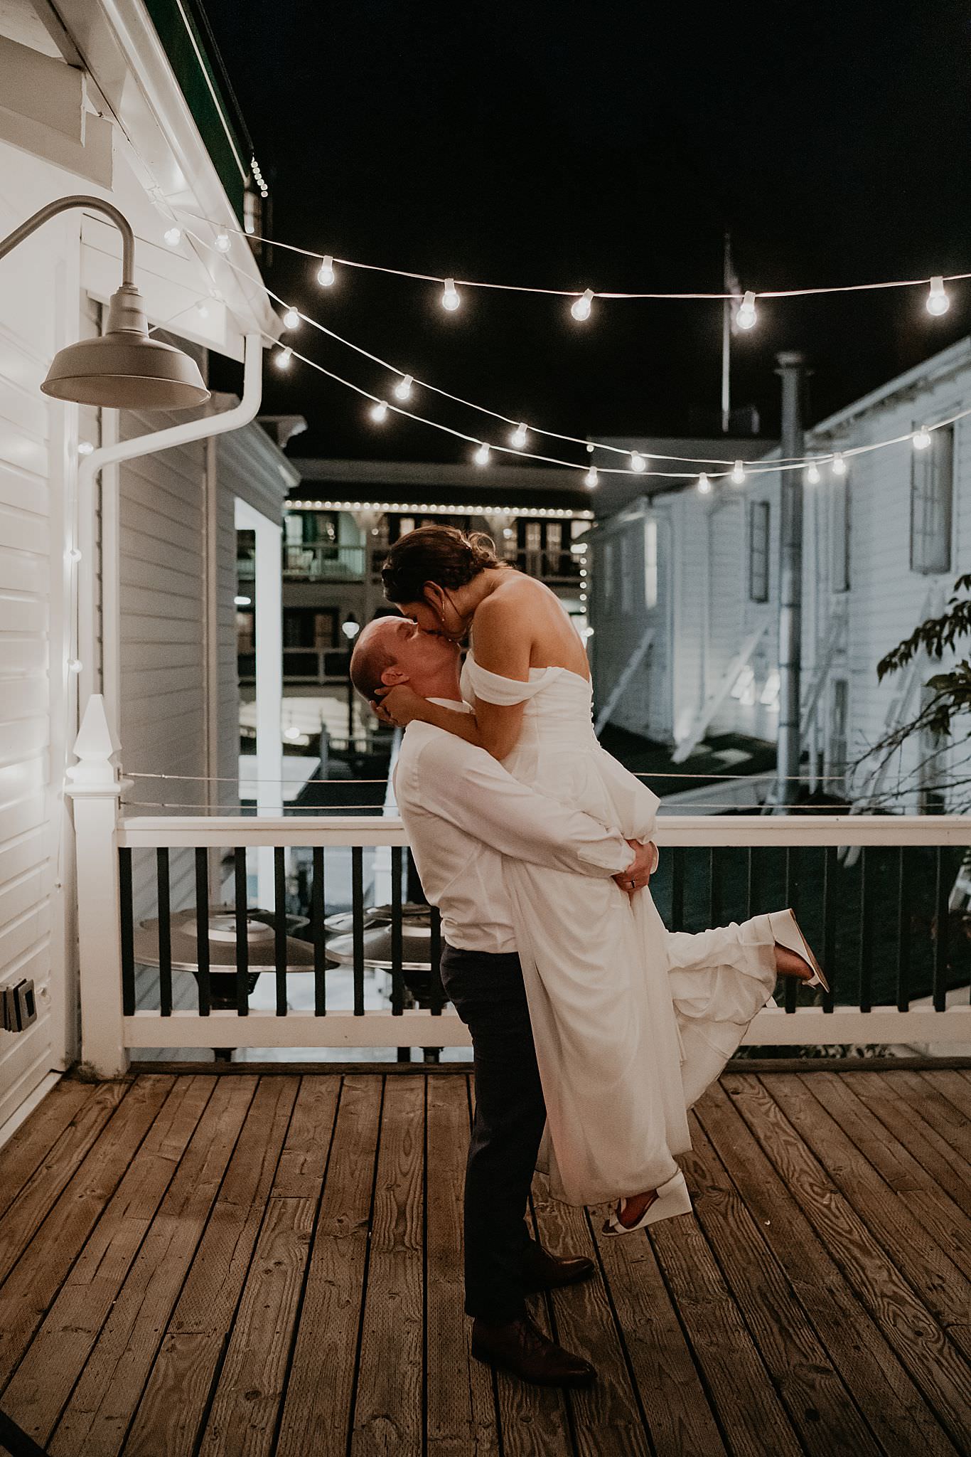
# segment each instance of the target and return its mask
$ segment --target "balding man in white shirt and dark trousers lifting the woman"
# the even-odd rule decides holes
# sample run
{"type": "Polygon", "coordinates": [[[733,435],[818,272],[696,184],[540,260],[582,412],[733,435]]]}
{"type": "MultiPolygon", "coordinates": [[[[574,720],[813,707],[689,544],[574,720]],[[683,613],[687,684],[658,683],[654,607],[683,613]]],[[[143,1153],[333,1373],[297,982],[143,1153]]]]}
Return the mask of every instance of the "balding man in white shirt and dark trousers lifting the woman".
{"type": "MultiPolygon", "coordinates": [[[[408,683],[422,698],[469,711],[459,648],[409,618],[364,628],[351,679],[368,701],[380,688],[408,683]]],[[[441,979],[472,1033],[476,1115],[464,1195],[472,1354],[526,1381],[585,1386],[594,1367],[547,1340],[524,1301],[588,1279],[594,1263],[550,1254],[524,1222],[546,1109],[502,857],[611,876],[632,895],[648,883],[654,852],[537,794],[485,749],[432,724],[408,726],[395,793],[422,887],[441,911],[441,979]]]]}

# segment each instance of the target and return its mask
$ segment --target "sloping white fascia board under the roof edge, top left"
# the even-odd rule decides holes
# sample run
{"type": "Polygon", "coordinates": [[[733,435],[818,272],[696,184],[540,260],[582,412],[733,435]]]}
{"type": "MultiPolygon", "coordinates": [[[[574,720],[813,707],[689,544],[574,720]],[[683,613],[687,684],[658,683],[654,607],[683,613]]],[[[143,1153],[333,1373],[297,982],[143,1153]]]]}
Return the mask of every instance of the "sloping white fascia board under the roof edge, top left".
{"type": "Polygon", "coordinates": [[[131,169],[154,204],[159,237],[173,219],[207,242],[221,227],[229,232],[226,256],[198,249],[227,305],[223,341],[205,342],[242,360],[243,335],[275,338],[280,319],[148,12],[141,0],[61,0],[58,13],[127,138],[131,169]],[[213,219],[215,226],[176,217],[178,210],[213,219]]]}

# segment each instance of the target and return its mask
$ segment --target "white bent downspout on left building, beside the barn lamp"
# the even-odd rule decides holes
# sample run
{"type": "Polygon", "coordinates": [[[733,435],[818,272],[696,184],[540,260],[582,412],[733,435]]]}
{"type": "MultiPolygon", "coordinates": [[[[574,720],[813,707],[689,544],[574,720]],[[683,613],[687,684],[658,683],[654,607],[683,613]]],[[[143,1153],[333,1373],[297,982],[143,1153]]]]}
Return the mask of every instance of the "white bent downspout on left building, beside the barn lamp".
{"type": "MultiPolygon", "coordinates": [[[[191,440],[207,440],[229,430],[239,430],[255,418],[262,402],[262,337],[247,334],[243,351],[243,398],[233,409],[220,415],[204,415],[201,420],[186,420],[181,425],[153,430],[151,434],[121,440],[102,446],[80,462],[77,469],[77,513],[79,546],[82,559],[77,571],[77,656],[80,659],[79,717],[84,712],[89,696],[98,691],[95,663],[95,481],[108,465],[134,460],[154,450],[186,444],[191,440]]],[[[102,548],[108,548],[112,567],[102,571],[102,685],[108,721],[118,733],[119,692],[119,592],[118,592],[118,491],[106,491],[102,500],[102,548]]]]}

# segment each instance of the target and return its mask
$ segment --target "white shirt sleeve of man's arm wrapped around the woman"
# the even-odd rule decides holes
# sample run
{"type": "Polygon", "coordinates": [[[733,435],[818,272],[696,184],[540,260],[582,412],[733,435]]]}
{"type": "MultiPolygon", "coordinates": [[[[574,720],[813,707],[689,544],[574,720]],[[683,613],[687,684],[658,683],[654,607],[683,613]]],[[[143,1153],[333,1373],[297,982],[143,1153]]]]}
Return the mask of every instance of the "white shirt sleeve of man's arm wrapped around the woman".
{"type": "Polygon", "coordinates": [[[502,855],[598,877],[633,860],[619,830],[520,784],[485,749],[444,730],[422,745],[412,782],[424,810],[502,855]]]}

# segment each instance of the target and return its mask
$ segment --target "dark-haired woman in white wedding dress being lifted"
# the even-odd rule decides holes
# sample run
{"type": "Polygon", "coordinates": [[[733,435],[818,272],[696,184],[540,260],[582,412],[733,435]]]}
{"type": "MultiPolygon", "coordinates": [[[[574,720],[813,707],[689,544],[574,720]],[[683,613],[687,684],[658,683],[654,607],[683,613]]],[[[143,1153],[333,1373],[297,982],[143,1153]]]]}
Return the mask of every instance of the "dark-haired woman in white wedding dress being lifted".
{"type": "MultiPolygon", "coordinates": [[[[488,536],[422,526],[400,538],[384,594],[427,632],[470,635],[475,714],[406,686],[376,704],[479,745],[521,782],[649,841],[658,797],[598,745],[590,664],[559,599],[498,561],[488,536]]],[[[657,864],[657,861],[655,861],[657,864]]],[[[668,932],[649,890],[507,861],[515,940],[546,1100],[537,1167],[568,1203],[616,1203],[625,1234],[691,1208],[674,1154],[687,1109],[721,1074],[777,975],[825,979],[790,911],[702,935],[668,932]]],[[[828,989],[828,988],[827,988],[828,989]]]]}

